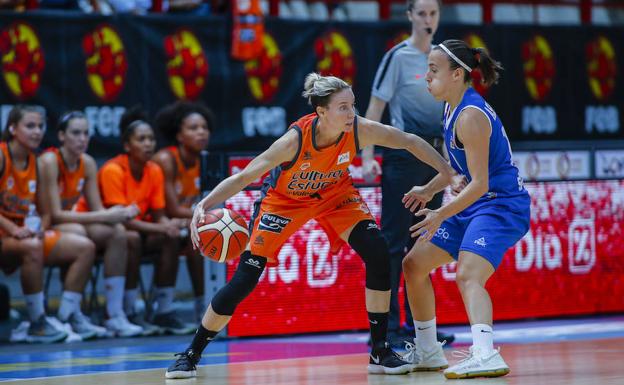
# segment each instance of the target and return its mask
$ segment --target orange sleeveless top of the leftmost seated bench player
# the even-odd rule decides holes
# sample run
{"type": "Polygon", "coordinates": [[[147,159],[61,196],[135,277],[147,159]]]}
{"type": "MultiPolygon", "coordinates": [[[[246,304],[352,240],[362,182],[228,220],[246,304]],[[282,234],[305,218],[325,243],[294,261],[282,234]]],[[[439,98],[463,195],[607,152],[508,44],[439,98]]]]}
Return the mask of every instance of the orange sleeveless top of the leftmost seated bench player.
{"type": "Polygon", "coordinates": [[[22,226],[28,207],[35,204],[37,192],[37,160],[34,154],[28,155],[25,170],[13,167],[11,152],[7,142],[0,143],[4,167],[0,175],[0,214],[22,226]]]}

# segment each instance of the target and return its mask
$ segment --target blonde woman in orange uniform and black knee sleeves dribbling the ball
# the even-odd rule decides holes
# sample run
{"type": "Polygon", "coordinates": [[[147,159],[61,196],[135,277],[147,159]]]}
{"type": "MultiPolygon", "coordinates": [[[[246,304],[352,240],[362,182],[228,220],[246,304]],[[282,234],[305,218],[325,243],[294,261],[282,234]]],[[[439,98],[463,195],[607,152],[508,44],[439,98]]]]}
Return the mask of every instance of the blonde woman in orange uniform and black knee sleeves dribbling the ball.
{"type": "Polygon", "coordinates": [[[284,241],[310,219],[318,221],[327,232],[332,250],[347,242],[366,265],[366,310],[372,340],[369,373],[405,374],[412,369],[386,342],[390,306],[388,247],[353,186],[348,166],[360,148],[374,144],[404,148],[449,181],[451,168],[418,136],[357,116],[353,91],[343,80],[312,73],[306,77],[304,88],[303,96],[314,113],[292,124],[268,150],[242,172],[222,181],[195,209],[191,237],[198,247],[197,224],[202,223],[205,210],[272,170],[254,206],[248,250],[242,254],[230,282],[213,297],[191,345],[167,369],[167,378],[196,374],[208,342],[255,288],[267,263],[276,264],[284,241]]]}

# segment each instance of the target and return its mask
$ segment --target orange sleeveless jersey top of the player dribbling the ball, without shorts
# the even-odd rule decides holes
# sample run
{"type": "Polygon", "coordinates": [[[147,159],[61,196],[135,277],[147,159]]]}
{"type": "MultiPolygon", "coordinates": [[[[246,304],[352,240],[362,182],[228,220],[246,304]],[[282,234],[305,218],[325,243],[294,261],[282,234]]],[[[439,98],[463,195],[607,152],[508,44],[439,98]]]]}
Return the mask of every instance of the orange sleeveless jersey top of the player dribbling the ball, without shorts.
{"type": "Polygon", "coordinates": [[[319,149],[315,141],[318,117],[306,115],[290,126],[299,131],[299,151],[295,158],[271,171],[265,179],[267,204],[318,203],[344,192],[353,181],[349,165],[359,150],[357,117],[353,130],[343,132],[336,143],[319,149]]]}

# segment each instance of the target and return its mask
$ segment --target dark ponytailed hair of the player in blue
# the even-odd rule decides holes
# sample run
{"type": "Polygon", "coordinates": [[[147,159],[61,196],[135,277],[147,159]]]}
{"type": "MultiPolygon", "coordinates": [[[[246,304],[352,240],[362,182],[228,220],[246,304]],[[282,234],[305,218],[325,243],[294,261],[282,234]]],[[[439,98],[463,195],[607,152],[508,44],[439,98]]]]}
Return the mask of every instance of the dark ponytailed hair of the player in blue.
{"type": "MultiPolygon", "coordinates": [[[[444,47],[451,51],[453,55],[455,55],[469,68],[478,68],[481,70],[481,74],[483,75],[481,82],[486,86],[489,87],[498,82],[500,72],[503,70],[503,67],[500,62],[492,59],[490,54],[488,54],[484,48],[470,48],[465,41],[456,39],[445,40],[441,45],[444,45],[444,47]]],[[[440,46],[436,46],[434,49],[445,52],[445,50],[440,46]]],[[[451,69],[463,67],[461,63],[448,55],[447,52],[445,53],[448,56],[451,69]]],[[[468,83],[471,80],[472,77],[470,76],[470,72],[464,68],[464,83],[468,83]]]]}

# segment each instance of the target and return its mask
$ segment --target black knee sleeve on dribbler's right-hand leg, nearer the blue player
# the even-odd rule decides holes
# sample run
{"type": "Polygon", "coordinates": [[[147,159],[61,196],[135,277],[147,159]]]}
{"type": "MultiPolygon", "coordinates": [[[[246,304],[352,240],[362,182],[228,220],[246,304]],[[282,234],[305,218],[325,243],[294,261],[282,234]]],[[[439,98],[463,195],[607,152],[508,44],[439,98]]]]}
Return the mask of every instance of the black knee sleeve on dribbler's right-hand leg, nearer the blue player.
{"type": "Polygon", "coordinates": [[[361,221],[349,235],[349,245],[366,265],[366,288],[390,290],[390,253],[375,221],[361,221]]]}

